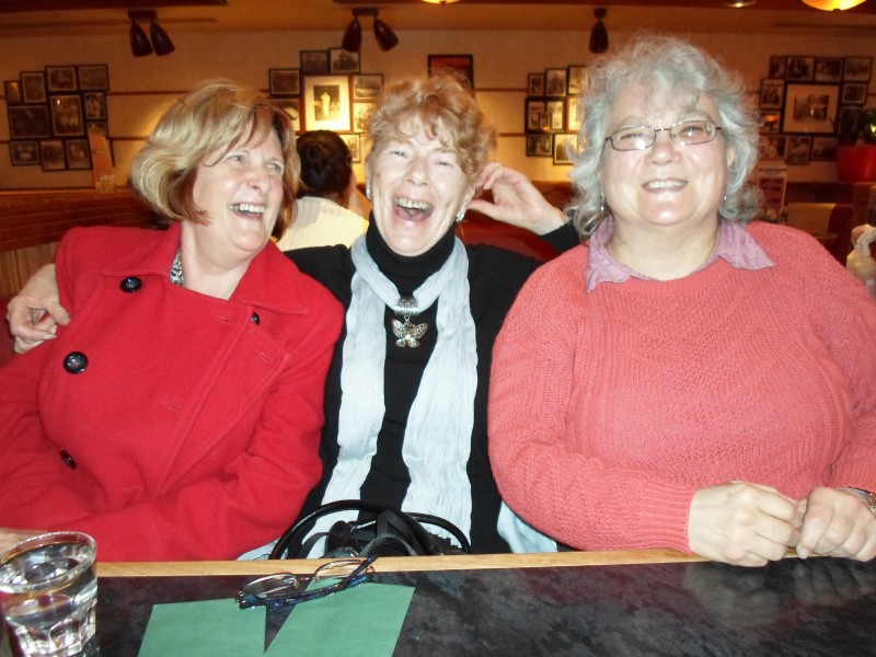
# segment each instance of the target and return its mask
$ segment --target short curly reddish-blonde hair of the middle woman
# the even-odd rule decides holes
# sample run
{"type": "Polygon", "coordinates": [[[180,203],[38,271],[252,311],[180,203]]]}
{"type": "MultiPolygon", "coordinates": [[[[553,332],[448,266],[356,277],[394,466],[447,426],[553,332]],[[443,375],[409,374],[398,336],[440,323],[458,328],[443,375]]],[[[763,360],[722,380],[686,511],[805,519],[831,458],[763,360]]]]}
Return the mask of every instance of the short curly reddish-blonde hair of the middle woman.
{"type": "Polygon", "coordinates": [[[369,164],[383,147],[417,119],[429,137],[452,150],[469,182],[489,161],[496,130],[477,106],[468,83],[452,73],[406,78],[383,88],[368,120],[369,164]]]}

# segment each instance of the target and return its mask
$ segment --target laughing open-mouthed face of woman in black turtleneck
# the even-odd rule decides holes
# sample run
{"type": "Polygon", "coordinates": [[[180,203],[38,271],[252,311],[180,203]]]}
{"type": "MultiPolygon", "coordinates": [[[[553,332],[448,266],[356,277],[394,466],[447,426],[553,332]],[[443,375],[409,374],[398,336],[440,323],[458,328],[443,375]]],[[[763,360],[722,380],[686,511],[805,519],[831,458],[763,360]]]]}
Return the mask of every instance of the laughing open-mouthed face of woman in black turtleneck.
{"type": "Polygon", "coordinates": [[[474,193],[457,153],[415,118],[369,159],[368,178],[377,229],[406,256],[431,249],[474,193]]]}

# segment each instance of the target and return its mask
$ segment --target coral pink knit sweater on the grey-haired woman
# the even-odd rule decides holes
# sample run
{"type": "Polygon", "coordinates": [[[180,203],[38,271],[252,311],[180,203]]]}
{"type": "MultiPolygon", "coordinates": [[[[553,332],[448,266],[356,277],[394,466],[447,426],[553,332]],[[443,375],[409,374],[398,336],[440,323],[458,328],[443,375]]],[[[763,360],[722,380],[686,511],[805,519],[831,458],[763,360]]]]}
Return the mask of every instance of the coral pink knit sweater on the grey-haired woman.
{"type": "Polygon", "coordinates": [[[579,550],[690,551],[696,489],[876,489],[876,304],[809,235],[775,263],[585,291],[588,250],[541,267],[496,343],[489,457],[525,520],[579,550]]]}

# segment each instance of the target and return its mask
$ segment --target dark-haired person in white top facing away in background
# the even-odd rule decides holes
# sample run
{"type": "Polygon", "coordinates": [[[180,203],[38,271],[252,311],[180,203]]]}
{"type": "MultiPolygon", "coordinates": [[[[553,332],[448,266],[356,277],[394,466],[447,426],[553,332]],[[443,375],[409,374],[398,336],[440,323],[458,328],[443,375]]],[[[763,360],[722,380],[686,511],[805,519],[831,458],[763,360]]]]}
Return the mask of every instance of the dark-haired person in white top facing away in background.
{"type": "Polygon", "coordinates": [[[365,233],[368,221],[349,207],[356,176],[346,142],[331,130],[299,135],[296,148],[301,159],[301,188],[295,220],[277,242],[283,251],[344,244],[365,233]]]}

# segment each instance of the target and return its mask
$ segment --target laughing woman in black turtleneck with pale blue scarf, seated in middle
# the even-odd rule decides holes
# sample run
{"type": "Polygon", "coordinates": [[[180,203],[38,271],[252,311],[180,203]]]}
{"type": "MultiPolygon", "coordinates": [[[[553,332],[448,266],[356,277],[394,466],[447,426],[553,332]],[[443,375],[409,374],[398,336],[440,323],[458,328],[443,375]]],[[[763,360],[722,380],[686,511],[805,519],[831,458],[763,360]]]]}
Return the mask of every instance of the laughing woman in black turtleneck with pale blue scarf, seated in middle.
{"type": "MultiPolygon", "coordinates": [[[[440,516],[474,552],[507,552],[487,458],[489,366],[505,314],[540,263],[465,247],[454,223],[471,208],[542,234],[558,251],[578,237],[526,176],[491,162],[495,130],[453,76],[388,84],[367,136],[373,210],[366,234],[350,249],[287,252],[346,309],[325,387],[323,476],[302,515],[365,499],[440,516]],[[492,201],[475,198],[481,189],[492,191],[492,201]]],[[[13,299],[10,325],[20,341],[50,335],[28,321],[31,308],[57,312],[50,297],[13,299]]]]}

